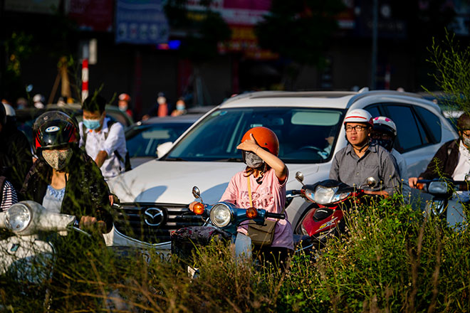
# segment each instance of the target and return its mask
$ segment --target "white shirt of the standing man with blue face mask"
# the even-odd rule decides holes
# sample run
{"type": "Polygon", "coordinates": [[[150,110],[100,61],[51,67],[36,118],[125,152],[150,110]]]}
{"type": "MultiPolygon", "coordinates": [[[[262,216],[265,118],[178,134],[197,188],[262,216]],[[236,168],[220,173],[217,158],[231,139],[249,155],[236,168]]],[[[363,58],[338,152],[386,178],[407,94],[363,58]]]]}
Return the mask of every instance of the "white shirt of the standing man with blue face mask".
{"type": "MultiPolygon", "coordinates": [[[[117,176],[125,170],[125,164],[117,159],[114,152],[117,150],[123,161],[127,153],[122,124],[115,122],[111,126],[111,129],[109,129],[108,122],[110,122],[110,119],[105,117],[103,127],[99,132],[86,129],[88,133],[85,144],[85,151],[93,160],[96,159],[100,151],[105,151],[108,154],[108,158],[105,159],[103,165],[100,167],[101,173],[106,180],[117,176]],[[106,133],[108,133],[108,138],[105,138],[106,133]]],[[[80,147],[83,147],[83,129],[85,129],[83,122],[78,124],[78,128],[80,129],[80,147]]]]}

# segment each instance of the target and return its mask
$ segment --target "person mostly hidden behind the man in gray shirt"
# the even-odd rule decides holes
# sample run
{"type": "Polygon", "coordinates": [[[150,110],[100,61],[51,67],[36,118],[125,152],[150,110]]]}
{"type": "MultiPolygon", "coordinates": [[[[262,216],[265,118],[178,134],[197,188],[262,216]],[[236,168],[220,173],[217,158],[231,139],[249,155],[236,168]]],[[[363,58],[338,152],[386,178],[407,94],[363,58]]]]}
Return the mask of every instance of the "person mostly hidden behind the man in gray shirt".
{"type": "Polygon", "coordinates": [[[408,184],[408,166],[407,161],[402,157],[402,154],[397,152],[393,147],[395,138],[397,137],[397,126],[395,122],[385,116],[374,117],[374,128],[372,130],[372,144],[380,144],[380,146],[387,149],[398,166],[398,174],[402,181],[402,194],[405,197],[409,197],[411,189],[408,184]]]}

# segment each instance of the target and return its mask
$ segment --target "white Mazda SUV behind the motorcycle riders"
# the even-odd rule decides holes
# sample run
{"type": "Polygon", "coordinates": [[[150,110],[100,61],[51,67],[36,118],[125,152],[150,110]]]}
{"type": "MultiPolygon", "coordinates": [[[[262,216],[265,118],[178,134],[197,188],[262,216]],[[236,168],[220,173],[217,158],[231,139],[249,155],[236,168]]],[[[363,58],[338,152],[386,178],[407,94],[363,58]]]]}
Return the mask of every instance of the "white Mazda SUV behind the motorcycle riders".
{"type": "MultiPolygon", "coordinates": [[[[287,190],[328,179],[333,155],[346,146],[343,118],[352,109],[372,117],[390,117],[397,124],[395,149],[407,160],[409,176],[417,176],[444,142],[457,137],[437,105],[419,95],[388,90],[362,92],[251,92],[231,97],[187,129],[163,157],[148,161],[110,181],[121,201],[108,245],[152,245],[168,248],[169,233],[188,223],[182,213],[198,186],[204,202],[214,203],[231,176],[245,168],[236,146],[251,127],[276,132],[279,157],[287,164],[287,190]]],[[[162,152],[160,150],[160,152],[162,152]]],[[[286,213],[296,230],[308,203],[294,198],[286,213]]]]}

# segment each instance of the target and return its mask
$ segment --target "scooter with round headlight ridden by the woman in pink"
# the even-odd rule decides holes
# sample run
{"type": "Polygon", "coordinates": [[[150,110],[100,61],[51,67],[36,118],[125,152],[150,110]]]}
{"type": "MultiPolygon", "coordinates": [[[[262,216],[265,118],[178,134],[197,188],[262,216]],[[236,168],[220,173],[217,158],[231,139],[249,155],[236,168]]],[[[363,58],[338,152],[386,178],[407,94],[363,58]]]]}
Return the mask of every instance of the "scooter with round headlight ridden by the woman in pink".
{"type": "Polygon", "coordinates": [[[286,218],[283,213],[271,213],[260,208],[237,208],[224,201],[206,204],[197,186],[193,187],[192,194],[201,201],[194,205],[195,216],[182,215],[179,218],[203,218],[205,223],[203,226],[180,228],[172,233],[172,255],[177,255],[181,260],[190,260],[195,245],[207,245],[213,238],[234,243],[236,258],[251,258],[251,238],[237,232],[241,223],[254,221],[263,225],[266,218],[286,218]]]}

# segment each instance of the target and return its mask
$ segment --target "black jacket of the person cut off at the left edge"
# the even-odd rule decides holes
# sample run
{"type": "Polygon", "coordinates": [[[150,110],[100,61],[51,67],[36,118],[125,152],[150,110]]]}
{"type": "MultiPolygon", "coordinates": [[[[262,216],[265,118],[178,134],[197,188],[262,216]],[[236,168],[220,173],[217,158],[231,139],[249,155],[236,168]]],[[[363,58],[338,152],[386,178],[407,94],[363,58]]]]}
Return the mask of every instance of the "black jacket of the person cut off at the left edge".
{"type": "Polygon", "coordinates": [[[19,191],[32,165],[31,146],[25,134],[16,127],[2,129],[0,132],[0,175],[6,176],[16,191],[19,191]]]}

